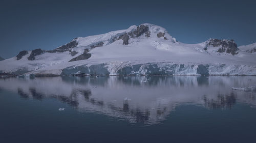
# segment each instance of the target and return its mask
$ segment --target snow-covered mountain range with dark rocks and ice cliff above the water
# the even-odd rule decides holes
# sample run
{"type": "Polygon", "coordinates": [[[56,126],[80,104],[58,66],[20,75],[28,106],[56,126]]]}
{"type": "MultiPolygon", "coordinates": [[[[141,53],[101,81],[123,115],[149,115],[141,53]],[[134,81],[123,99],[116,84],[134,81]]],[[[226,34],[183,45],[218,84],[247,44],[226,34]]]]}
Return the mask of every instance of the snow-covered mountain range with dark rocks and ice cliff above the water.
{"type": "Polygon", "coordinates": [[[233,40],[185,44],[163,27],[144,23],[78,37],[53,50],[20,51],[0,62],[1,72],[35,76],[256,75],[256,56],[239,50],[233,40]]]}

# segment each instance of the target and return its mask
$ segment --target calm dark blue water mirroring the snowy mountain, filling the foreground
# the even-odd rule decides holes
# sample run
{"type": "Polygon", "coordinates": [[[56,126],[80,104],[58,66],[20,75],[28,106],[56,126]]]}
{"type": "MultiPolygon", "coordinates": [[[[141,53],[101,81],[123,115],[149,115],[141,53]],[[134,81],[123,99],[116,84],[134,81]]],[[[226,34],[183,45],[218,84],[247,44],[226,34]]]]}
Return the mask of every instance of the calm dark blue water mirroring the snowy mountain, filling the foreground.
{"type": "Polygon", "coordinates": [[[0,142],[256,142],[256,93],[231,89],[250,84],[255,76],[0,79],[0,142]]]}

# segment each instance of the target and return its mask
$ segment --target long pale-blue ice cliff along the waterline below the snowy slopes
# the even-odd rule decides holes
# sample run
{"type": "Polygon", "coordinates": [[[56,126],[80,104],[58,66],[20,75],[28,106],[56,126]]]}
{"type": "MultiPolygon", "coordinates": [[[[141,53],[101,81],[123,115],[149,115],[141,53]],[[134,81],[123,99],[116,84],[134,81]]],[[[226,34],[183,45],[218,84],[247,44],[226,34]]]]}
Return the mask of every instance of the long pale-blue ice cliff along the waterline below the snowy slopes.
{"type": "Polygon", "coordinates": [[[256,66],[177,63],[103,63],[71,66],[61,75],[256,75],[256,66]]]}

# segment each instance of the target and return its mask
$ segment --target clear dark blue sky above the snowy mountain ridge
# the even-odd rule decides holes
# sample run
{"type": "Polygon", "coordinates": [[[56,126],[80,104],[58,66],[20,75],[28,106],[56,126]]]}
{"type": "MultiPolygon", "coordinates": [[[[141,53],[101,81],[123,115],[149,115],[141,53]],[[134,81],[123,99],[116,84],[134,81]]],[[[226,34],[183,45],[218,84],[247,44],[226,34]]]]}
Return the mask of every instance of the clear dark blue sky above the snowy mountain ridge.
{"type": "Polygon", "coordinates": [[[184,43],[209,38],[256,42],[254,1],[1,1],[3,58],[21,50],[53,49],[75,37],[141,23],[166,28],[184,43]]]}

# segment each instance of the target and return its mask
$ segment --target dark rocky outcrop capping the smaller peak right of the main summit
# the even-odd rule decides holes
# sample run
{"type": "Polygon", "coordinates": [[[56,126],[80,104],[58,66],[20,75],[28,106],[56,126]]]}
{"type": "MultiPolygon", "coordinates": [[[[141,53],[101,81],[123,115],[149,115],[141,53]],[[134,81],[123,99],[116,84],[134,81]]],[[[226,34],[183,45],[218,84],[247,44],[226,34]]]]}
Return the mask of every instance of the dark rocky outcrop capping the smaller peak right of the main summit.
{"type": "Polygon", "coordinates": [[[220,47],[217,51],[220,53],[226,52],[231,53],[232,55],[238,54],[238,45],[234,40],[220,40],[220,39],[209,39],[206,42],[204,50],[207,50],[209,46],[220,47]]]}

